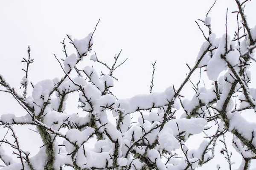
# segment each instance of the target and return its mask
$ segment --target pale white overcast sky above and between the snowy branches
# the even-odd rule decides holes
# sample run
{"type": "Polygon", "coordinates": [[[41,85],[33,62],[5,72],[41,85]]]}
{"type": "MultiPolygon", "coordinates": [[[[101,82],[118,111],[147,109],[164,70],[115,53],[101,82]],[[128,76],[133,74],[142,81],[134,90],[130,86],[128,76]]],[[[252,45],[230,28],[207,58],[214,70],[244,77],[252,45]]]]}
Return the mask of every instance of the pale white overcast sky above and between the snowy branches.
{"type": "MultiPolygon", "coordinates": [[[[149,92],[151,63],[155,60],[157,63],[153,91],[163,91],[173,84],[178,88],[188,73],[186,63],[190,66],[195,63],[204,41],[195,20],[204,19],[213,2],[214,0],[1,0],[0,74],[18,90],[24,76],[21,68],[25,67],[20,61],[22,57],[27,57],[26,50],[30,45],[35,62],[30,65],[29,80],[35,84],[42,79],[63,76],[64,73],[53,56],[56,54],[59,58],[64,58],[60,42],[64,38],[67,40],[66,34],[71,34],[73,38],[84,38],[101,19],[93,47],[99,59],[111,64],[113,56],[121,49],[120,61],[128,57],[127,62],[114,72],[119,81],[115,82],[113,91],[119,98],[149,92]]],[[[227,7],[229,11],[236,10],[235,0],[217,0],[209,13],[212,17],[212,31],[217,37],[225,32],[227,7]]],[[[253,18],[256,15],[255,7],[256,1],[253,0],[245,8],[250,27],[256,25],[253,18]]],[[[236,14],[231,12],[228,15],[228,29],[233,37],[236,14]]],[[[71,46],[67,50],[68,54],[74,52],[71,46]]],[[[87,63],[92,64],[85,59],[80,68],[87,63]]],[[[191,97],[193,91],[185,88],[183,94],[191,97]]],[[[2,93],[0,96],[0,114],[22,114],[17,113],[20,109],[18,105],[9,102],[14,102],[11,96],[2,93]]],[[[31,146],[25,146],[29,147],[31,146]]]]}

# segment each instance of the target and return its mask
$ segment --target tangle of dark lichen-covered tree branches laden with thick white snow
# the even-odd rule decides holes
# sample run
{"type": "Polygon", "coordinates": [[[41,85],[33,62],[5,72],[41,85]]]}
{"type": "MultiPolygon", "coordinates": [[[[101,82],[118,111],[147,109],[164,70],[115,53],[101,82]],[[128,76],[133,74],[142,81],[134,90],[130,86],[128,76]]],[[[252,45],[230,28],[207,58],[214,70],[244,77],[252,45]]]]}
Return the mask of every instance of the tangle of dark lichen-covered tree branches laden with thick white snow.
{"type": "MultiPolygon", "coordinates": [[[[27,64],[23,69],[26,76],[21,82],[23,95],[0,75],[0,93],[12,95],[26,112],[20,117],[1,113],[0,128],[8,127],[14,142],[10,142],[7,133],[0,141],[3,162],[0,167],[3,170],[62,170],[65,166],[74,170],[194,170],[214,162],[217,153],[222,153],[231,170],[232,145],[243,158],[240,169],[249,169],[251,160],[256,159],[256,122],[247,121],[240,113],[255,111],[256,107],[256,88],[248,85],[253,79],[249,70],[256,48],[256,27],[249,27],[244,14],[244,5],[250,2],[235,1],[239,9],[233,12],[237,14],[235,37],[231,39],[227,34],[227,17],[226,33],[220,38],[213,33],[209,12],[214,10],[215,1],[205,19],[196,21],[195,26],[205,41],[195,57],[195,65],[186,64],[189,72],[178,88],[169,85],[162,92],[153,91],[154,62],[148,94],[128,99],[113,95],[114,82],[118,80],[113,76],[114,71],[127,61],[126,58],[119,62],[122,50],[115,55],[112,65],[100,60],[94,51],[87,62],[94,65],[78,68],[93,51],[93,35],[99,22],[84,39],[67,35],[76,54],[69,54],[65,40],[61,42],[64,59],[54,56],[63,77],[41,80],[32,87],[28,86],[29,64],[33,62],[29,47],[28,58],[22,60],[27,64]],[[239,33],[242,27],[244,34],[239,33]],[[97,63],[109,73],[100,72],[97,63]],[[192,99],[183,94],[188,82],[192,84],[192,99]],[[29,88],[32,88],[31,94],[29,88]],[[72,93],[77,96],[79,113],[66,110],[72,93]],[[15,133],[20,125],[36,127],[33,131],[41,137],[43,146],[35,156],[21,149],[21,138],[15,133]],[[225,137],[230,133],[232,143],[225,137]],[[196,138],[198,148],[189,148],[189,137],[198,134],[203,135],[204,140],[196,138]],[[217,150],[217,144],[224,147],[217,150]],[[19,162],[12,159],[13,155],[19,162]]],[[[217,169],[223,166],[218,165],[217,169]]]]}

